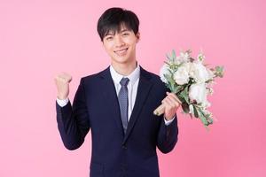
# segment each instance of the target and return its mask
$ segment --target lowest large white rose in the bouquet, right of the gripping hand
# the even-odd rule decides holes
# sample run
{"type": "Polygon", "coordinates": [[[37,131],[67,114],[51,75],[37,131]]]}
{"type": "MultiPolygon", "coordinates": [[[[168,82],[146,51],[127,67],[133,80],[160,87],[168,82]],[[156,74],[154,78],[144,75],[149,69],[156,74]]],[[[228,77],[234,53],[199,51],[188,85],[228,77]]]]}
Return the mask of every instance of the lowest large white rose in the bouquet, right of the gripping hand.
{"type": "Polygon", "coordinates": [[[197,104],[202,104],[203,107],[210,106],[210,103],[207,101],[207,89],[206,83],[194,83],[189,89],[189,97],[191,101],[196,101],[197,104]]]}

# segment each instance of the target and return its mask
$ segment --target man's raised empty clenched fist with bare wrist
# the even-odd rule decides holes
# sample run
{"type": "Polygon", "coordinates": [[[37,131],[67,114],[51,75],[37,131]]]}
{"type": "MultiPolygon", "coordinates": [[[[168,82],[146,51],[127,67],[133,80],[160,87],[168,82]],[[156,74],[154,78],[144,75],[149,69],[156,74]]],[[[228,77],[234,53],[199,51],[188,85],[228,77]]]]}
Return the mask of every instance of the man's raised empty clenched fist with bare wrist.
{"type": "Polygon", "coordinates": [[[59,73],[55,76],[54,81],[58,89],[58,98],[66,99],[69,94],[69,82],[72,81],[71,75],[68,73],[59,73]]]}

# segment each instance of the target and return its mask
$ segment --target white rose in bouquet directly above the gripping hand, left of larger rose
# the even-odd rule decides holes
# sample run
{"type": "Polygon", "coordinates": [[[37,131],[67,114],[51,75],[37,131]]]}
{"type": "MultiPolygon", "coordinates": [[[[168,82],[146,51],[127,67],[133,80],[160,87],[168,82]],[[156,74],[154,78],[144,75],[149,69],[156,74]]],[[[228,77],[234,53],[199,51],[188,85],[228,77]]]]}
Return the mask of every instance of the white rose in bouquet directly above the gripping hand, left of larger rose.
{"type": "Polygon", "coordinates": [[[174,73],[174,80],[178,85],[184,85],[190,80],[190,64],[184,63],[177,68],[176,73],[174,73]]]}

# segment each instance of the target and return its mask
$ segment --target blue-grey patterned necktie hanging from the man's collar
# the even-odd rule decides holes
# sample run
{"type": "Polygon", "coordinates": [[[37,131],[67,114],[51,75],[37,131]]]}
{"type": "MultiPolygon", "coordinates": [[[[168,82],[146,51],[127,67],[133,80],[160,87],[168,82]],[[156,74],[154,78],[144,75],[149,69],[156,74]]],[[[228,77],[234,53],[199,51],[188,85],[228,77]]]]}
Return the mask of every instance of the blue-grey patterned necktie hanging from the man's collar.
{"type": "Polygon", "coordinates": [[[121,89],[118,94],[118,101],[121,112],[121,121],[124,129],[124,133],[126,134],[128,127],[128,109],[129,109],[129,96],[128,96],[128,88],[127,85],[129,83],[129,78],[122,78],[120,81],[121,89]]]}

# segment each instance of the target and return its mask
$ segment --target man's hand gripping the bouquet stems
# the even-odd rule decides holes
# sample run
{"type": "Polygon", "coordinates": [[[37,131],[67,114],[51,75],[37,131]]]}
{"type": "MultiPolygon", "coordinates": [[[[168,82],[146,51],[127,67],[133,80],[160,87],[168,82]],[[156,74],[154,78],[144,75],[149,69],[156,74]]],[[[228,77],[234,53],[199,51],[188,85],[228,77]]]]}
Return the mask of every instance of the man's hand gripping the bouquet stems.
{"type": "Polygon", "coordinates": [[[165,106],[164,117],[167,120],[173,119],[177,109],[182,104],[176,94],[167,92],[167,95],[161,103],[165,106]]]}

